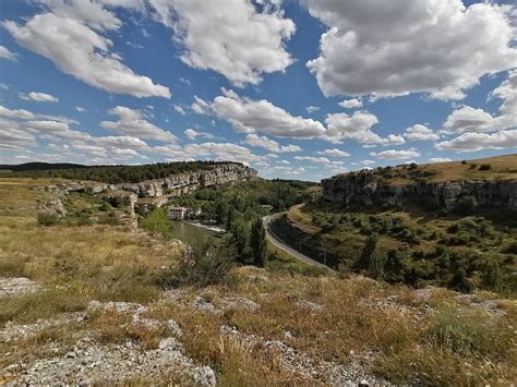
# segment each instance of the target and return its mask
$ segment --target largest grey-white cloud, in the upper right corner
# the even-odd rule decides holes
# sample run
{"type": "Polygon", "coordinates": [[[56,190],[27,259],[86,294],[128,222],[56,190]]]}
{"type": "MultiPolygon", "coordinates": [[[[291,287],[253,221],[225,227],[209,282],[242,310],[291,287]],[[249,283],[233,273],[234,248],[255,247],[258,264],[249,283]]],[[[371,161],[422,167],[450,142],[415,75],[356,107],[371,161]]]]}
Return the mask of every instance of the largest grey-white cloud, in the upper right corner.
{"type": "Polygon", "coordinates": [[[327,96],[429,93],[461,99],[484,74],[515,68],[512,5],[461,0],[306,0],[328,26],[308,62],[327,96]]]}

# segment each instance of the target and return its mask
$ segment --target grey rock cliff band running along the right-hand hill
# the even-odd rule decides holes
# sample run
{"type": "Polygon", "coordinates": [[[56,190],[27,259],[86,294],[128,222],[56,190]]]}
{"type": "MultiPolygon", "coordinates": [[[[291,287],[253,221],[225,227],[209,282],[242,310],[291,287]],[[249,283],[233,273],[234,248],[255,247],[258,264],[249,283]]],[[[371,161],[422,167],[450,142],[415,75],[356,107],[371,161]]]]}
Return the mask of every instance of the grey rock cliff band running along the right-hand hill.
{"type": "Polygon", "coordinates": [[[453,209],[465,196],[476,204],[517,210],[517,180],[386,182],[375,171],[340,174],[322,180],[323,199],[346,206],[405,206],[417,203],[453,209]]]}

